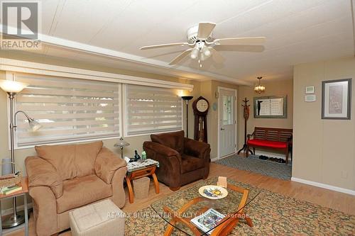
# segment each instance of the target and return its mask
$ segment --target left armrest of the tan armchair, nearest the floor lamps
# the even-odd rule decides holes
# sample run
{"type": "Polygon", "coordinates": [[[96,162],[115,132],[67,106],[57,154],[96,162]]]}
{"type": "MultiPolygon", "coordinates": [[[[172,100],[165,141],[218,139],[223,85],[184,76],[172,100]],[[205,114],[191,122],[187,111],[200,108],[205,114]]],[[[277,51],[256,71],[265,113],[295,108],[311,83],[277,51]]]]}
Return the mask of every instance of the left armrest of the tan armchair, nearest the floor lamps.
{"type": "Polygon", "coordinates": [[[63,193],[63,183],[60,175],[50,162],[40,157],[27,157],[25,160],[28,175],[28,186],[47,186],[55,198],[60,198],[63,193]]]}

